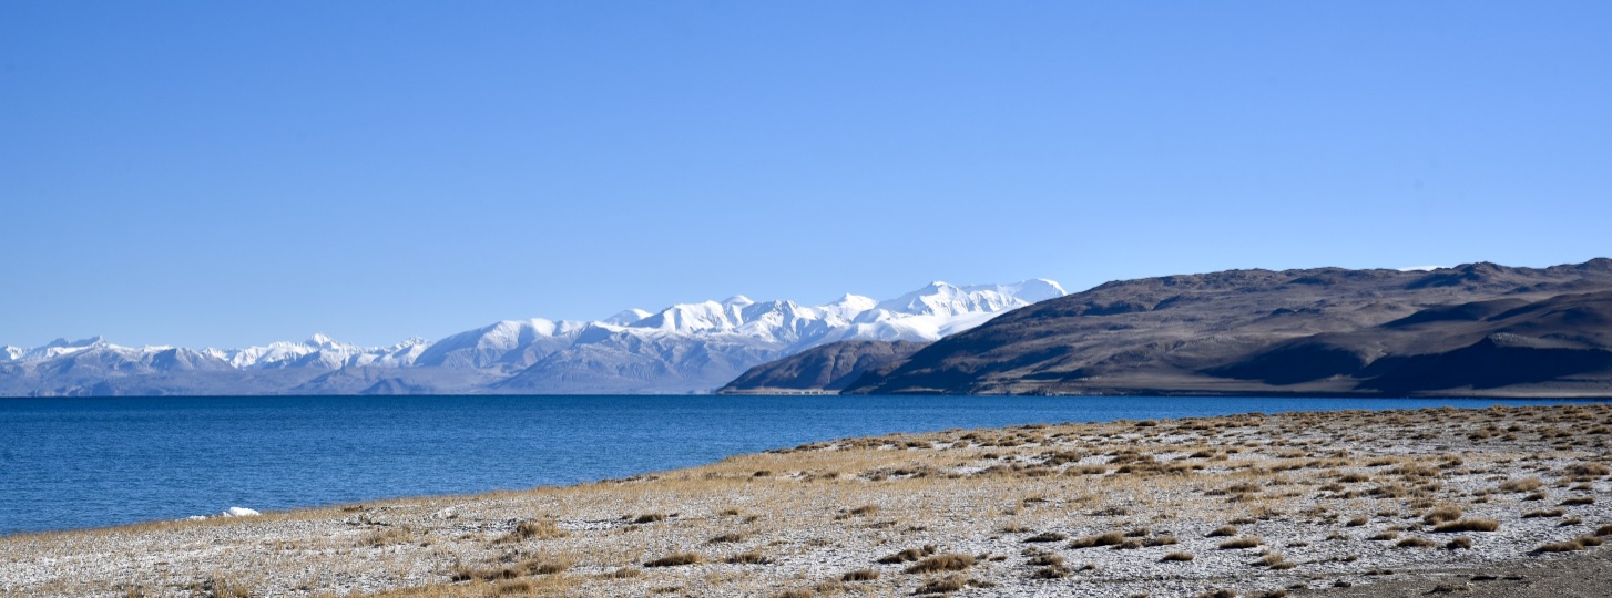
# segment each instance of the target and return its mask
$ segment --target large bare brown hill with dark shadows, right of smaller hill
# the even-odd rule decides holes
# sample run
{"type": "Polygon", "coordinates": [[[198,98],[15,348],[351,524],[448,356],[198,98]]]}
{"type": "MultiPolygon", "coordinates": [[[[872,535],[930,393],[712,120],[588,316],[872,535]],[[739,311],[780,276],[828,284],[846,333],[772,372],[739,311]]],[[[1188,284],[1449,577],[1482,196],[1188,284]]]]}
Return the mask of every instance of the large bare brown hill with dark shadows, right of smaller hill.
{"type": "Polygon", "coordinates": [[[1612,395],[1612,260],[1225,271],[1003,314],[848,393],[1612,395]]]}

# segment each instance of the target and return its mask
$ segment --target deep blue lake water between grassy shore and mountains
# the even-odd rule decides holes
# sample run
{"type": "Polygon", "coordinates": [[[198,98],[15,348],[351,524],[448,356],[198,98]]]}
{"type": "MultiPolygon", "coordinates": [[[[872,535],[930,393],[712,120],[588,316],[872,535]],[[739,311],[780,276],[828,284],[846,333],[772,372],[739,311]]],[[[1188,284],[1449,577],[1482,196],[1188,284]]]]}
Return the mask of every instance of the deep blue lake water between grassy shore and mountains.
{"type": "Polygon", "coordinates": [[[1159,397],[0,398],[0,534],[574,484],[887,432],[1536,401],[1159,397]]]}

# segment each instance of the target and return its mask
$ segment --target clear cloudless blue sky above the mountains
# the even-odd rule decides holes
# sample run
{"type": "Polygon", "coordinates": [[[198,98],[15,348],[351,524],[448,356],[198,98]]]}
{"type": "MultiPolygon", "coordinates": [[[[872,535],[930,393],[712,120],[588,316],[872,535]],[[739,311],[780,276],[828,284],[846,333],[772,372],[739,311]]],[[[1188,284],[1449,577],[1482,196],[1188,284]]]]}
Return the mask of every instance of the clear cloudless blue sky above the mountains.
{"type": "Polygon", "coordinates": [[[1607,2],[0,0],[0,345],[1612,255],[1607,2]]]}

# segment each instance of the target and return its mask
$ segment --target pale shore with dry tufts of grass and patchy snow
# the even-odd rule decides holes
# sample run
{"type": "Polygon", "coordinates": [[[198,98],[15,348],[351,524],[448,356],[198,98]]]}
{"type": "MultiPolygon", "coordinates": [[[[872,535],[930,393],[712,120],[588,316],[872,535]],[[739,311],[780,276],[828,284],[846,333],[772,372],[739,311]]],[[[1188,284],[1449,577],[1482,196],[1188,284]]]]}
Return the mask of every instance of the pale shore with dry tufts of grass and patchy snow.
{"type": "Polygon", "coordinates": [[[888,435],[575,487],[13,535],[0,592],[1604,596],[1609,464],[1612,405],[888,435]]]}

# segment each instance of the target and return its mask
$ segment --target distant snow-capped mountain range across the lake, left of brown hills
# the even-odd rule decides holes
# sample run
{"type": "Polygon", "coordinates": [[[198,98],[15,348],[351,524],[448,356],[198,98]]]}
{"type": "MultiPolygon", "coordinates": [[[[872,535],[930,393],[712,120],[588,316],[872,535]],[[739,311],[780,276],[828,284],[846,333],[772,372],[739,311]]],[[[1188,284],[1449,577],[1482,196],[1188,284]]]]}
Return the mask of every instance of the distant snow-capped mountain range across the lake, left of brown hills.
{"type": "Polygon", "coordinates": [[[316,334],[268,347],[119,347],[102,337],[0,348],[0,395],[693,393],[851,338],[935,340],[1035,301],[1057,282],[932,282],[887,301],[683,303],[593,321],[503,321],[442,340],[358,347],[316,334]]]}

